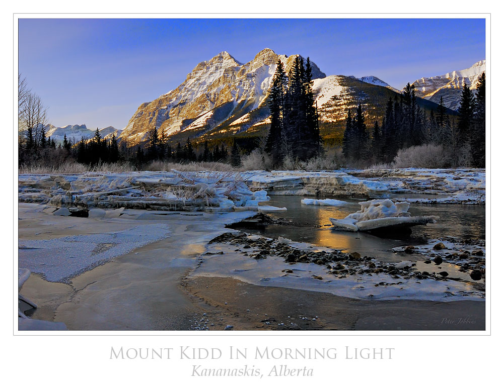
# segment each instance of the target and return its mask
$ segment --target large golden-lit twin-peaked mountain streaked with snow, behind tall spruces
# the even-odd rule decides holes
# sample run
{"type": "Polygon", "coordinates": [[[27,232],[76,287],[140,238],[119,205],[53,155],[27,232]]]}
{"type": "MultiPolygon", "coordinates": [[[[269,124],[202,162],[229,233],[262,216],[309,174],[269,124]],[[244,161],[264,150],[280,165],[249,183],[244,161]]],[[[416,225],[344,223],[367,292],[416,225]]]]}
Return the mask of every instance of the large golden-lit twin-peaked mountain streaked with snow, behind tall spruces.
{"type": "MultiPolygon", "coordinates": [[[[197,137],[220,129],[235,133],[268,118],[267,95],[280,59],[287,71],[295,55],[266,48],[242,64],[227,52],[199,63],[175,90],[143,103],[122,131],[129,144],[147,139],[154,125],[166,135],[197,137]]],[[[313,79],[326,75],[311,63],[313,79]]]]}

